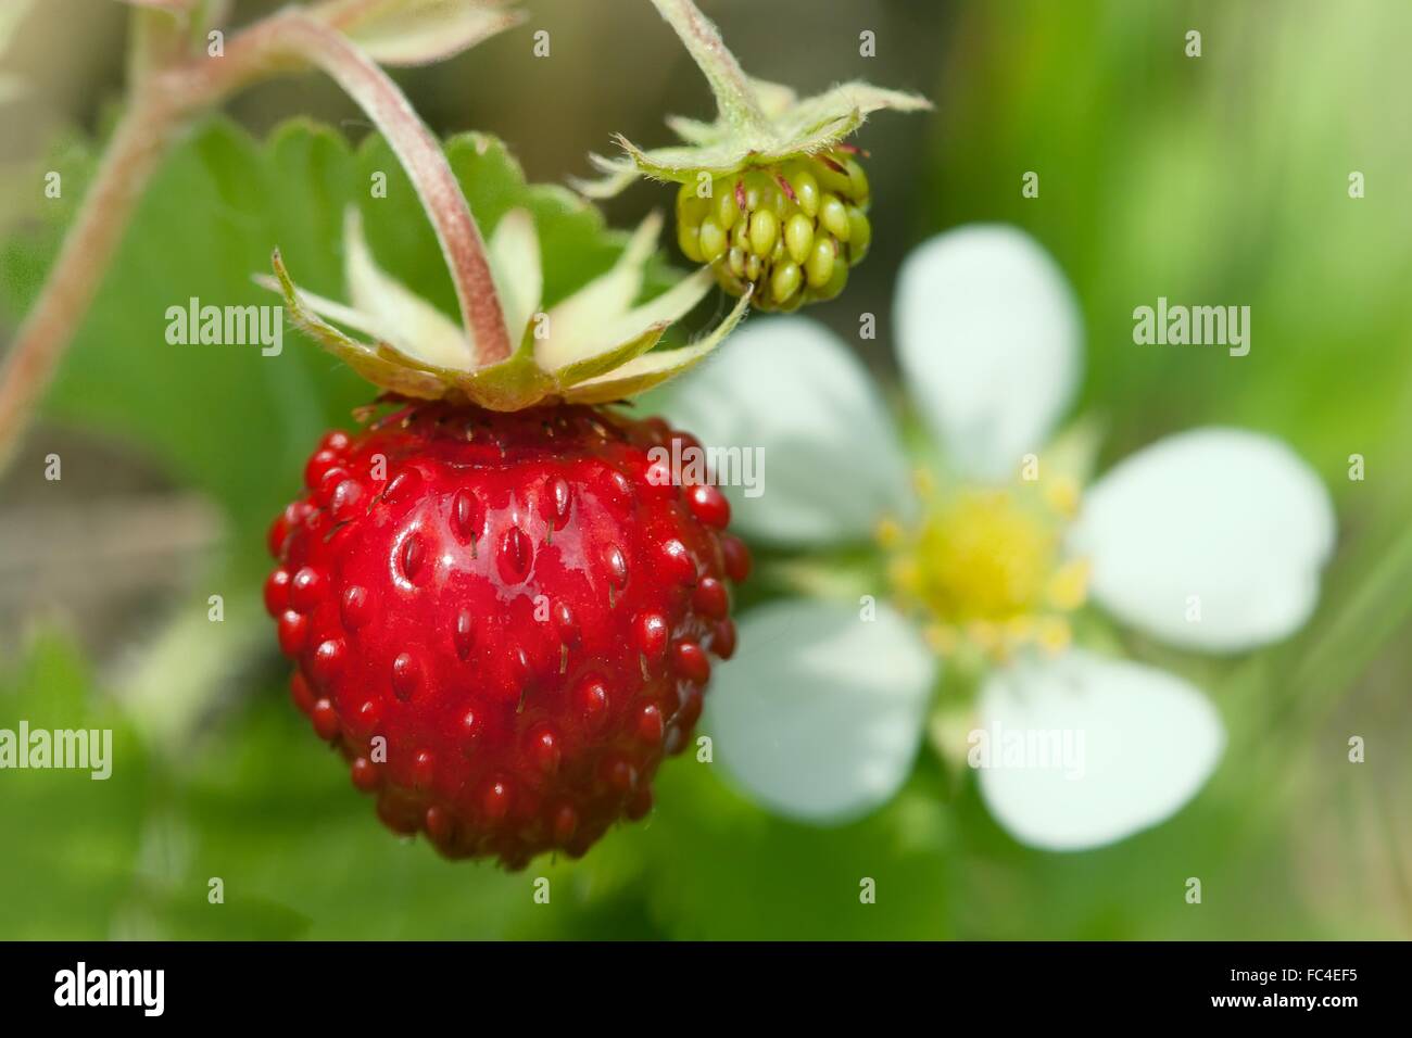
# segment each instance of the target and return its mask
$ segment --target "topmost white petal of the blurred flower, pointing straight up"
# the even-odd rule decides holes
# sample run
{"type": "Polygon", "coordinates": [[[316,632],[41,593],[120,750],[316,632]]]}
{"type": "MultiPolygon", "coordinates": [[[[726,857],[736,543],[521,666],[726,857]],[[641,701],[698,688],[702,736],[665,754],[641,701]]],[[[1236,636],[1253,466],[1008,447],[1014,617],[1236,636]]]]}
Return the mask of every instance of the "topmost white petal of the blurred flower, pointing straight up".
{"type": "Polygon", "coordinates": [[[1077,302],[1028,234],[976,225],[918,246],[898,275],[908,387],[969,476],[1012,476],[1045,445],[1083,369],[1077,302]]]}

